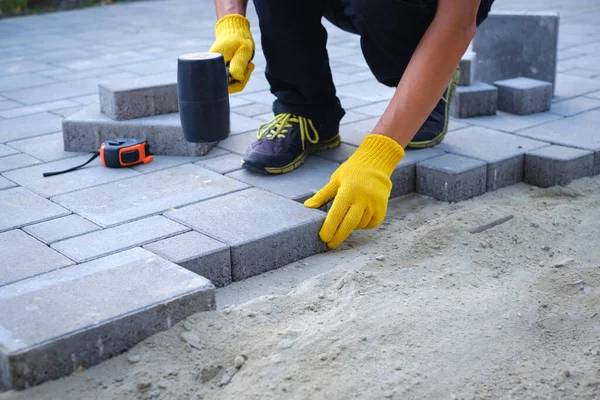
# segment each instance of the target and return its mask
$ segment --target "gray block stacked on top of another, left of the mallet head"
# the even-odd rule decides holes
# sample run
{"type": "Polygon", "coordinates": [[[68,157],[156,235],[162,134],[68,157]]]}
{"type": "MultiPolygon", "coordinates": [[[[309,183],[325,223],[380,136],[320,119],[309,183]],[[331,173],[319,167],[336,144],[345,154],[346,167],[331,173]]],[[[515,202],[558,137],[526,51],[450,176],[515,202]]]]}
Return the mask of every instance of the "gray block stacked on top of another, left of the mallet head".
{"type": "Polygon", "coordinates": [[[103,83],[99,94],[100,111],[117,121],[179,111],[173,73],[103,83]]]}

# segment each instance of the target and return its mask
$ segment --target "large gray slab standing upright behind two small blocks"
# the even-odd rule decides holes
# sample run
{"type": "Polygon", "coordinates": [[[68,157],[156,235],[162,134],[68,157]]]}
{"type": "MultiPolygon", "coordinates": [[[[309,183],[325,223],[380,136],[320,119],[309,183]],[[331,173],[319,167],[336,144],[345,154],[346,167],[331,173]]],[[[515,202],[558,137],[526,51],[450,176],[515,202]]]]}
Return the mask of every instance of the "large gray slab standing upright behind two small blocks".
{"type": "Polygon", "coordinates": [[[556,78],[559,16],[556,12],[491,12],[473,39],[475,79],[556,78]]]}

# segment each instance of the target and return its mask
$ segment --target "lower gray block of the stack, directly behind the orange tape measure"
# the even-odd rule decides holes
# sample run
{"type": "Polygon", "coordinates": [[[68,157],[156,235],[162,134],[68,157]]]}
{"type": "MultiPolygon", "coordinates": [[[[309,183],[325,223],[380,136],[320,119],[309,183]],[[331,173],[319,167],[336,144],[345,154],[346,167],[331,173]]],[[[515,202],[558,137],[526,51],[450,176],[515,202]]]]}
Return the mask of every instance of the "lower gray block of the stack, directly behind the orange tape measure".
{"type": "Polygon", "coordinates": [[[216,144],[187,142],[178,113],[113,121],[97,103],[66,118],[62,127],[66,151],[98,151],[102,142],[118,137],[147,140],[153,154],[167,156],[202,156],[216,144]]]}

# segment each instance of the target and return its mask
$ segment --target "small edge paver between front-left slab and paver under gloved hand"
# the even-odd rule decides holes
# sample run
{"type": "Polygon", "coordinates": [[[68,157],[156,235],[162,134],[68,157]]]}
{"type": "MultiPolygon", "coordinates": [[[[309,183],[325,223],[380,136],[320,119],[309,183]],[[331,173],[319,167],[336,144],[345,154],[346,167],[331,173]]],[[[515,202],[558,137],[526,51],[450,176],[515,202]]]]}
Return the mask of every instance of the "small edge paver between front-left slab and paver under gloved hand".
{"type": "Polygon", "coordinates": [[[205,277],[217,287],[231,283],[229,246],[199,232],[173,236],[144,248],[205,277]]]}

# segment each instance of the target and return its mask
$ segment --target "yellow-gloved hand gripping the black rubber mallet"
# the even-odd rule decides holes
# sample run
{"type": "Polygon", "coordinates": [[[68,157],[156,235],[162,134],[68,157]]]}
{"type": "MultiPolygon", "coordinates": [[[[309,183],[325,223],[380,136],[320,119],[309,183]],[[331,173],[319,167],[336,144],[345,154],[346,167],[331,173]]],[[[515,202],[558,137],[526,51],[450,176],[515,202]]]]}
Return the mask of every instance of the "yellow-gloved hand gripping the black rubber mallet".
{"type": "Polygon", "coordinates": [[[254,39],[250,21],[243,15],[229,14],[217,21],[216,40],[210,52],[221,53],[229,64],[229,75],[236,82],[229,85],[229,93],[241,92],[254,71],[254,39]]]}

